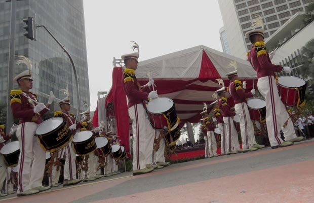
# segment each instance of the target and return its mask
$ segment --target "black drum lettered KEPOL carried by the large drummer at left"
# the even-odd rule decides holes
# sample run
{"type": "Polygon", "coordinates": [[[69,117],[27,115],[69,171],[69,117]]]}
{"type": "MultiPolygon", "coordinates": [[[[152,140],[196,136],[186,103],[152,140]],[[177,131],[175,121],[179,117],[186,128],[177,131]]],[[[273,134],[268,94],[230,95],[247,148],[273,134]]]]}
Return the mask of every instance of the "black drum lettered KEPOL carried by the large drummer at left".
{"type": "Polygon", "coordinates": [[[42,148],[50,152],[62,149],[72,139],[71,131],[62,117],[50,118],[39,124],[35,134],[42,148]]]}

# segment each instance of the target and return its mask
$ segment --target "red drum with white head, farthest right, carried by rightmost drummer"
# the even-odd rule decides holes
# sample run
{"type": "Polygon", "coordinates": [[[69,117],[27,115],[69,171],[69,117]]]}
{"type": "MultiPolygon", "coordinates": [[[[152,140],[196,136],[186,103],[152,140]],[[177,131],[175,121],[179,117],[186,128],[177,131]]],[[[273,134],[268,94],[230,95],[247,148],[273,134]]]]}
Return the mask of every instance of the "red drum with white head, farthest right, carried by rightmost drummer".
{"type": "Polygon", "coordinates": [[[281,100],[287,106],[299,107],[304,105],[306,82],[295,76],[278,78],[278,90],[281,100]]]}

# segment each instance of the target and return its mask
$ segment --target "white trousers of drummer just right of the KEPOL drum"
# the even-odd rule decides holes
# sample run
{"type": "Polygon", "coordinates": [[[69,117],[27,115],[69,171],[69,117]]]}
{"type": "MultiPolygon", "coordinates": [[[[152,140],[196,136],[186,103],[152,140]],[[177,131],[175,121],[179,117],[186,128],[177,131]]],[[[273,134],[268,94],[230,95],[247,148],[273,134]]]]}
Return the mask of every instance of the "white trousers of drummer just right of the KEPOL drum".
{"type": "Polygon", "coordinates": [[[76,154],[72,148],[72,141],[64,147],[65,163],[64,163],[64,180],[76,179],[76,154]]]}

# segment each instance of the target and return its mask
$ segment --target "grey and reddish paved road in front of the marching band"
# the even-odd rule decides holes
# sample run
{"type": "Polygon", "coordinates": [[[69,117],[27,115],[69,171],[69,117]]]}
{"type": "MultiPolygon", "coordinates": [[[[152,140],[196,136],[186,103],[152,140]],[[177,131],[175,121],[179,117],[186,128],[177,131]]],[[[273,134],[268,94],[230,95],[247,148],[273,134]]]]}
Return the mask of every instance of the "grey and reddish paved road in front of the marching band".
{"type": "Polygon", "coordinates": [[[5,202],[314,202],[314,140],[57,187],[5,202]]]}

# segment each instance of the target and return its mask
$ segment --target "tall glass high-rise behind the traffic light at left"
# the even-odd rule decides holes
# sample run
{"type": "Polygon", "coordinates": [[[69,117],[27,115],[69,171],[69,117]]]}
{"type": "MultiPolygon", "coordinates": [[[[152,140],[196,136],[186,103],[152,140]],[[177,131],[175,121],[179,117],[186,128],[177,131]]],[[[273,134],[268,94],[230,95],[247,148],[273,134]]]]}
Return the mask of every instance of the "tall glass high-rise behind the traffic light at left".
{"type": "MultiPolygon", "coordinates": [[[[10,44],[10,16],[11,2],[0,0],[0,100],[7,100],[9,44],[10,44]]],[[[45,25],[64,45],[71,54],[78,77],[81,97],[81,109],[83,101],[90,103],[85,22],[83,0],[22,0],[16,2],[15,22],[15,55],[25,55],[32,62],[32,74],[34,78],[32,92],[38,93],[40,101],[47,102],[40,92],[49,94],[52,90],[57,98],[64,98],[60,89],[68,85],[72,109],[77,109],[76,83],[71,62],[66,53],[43,27],[36,28],[36,40],[31,41],[23,34],[25,23],[23,19],[35,17],[36,24],[45,25]]],[[[25,65],[14,65],[14,76],[25,65]]],[[[14,84],[14,88],[18,88],[14,84]]],[[[53,110],[59,110],[54,103],[53,110]]]]}

